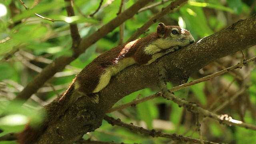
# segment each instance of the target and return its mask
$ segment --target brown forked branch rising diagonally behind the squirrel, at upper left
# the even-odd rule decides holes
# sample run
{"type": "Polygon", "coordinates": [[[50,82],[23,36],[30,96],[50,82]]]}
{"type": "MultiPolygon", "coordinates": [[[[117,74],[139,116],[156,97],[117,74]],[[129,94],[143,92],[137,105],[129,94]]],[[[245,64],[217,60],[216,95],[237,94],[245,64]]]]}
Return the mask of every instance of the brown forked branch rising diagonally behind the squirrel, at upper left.
{"type": "MultiPolygon", "coordinates": [[[[70,0],[67,0],[70,2],[70,0]]],[[[116,27],[118,27],[120,24],[122,24],[124,21],[128,20],[129,18],[132,18],[140,8],[148,4],[148,0],[138,0],[136,1],[130,8],[116,16],[113,20],[102,26],[98,31],[94,32],[90,36],[83,38],[79,45],[72,46],[71,49],[73,49],[75,52],[75,55],[73,56],[60,56],[59,58],[56,58],[51,64],[48,64],[40,74],[38,74],[32,81],[28,83],[28,85],[18,94],[16,97],[16,100],[27,100],[30,98],[32,94],[34,94],[48,79],[50,79],[56,72],[62,71],[67,64],[70,64],[73,60],[75,60],[80,54],[82,54],[89,46],[97,42],[100,38],[106,36],[108,32],[111,32],[116,27]],[[78,47],[75,48],[75,47],[78,47]]],[[[70,10],[70,8],[67,8],[70,10]]],[[[72,10],[68,13],[72,14],[72,10]]],[[[72,27],[73,28],[73,27],[72,27]]],[[[71,28],[71,30],[72,30],[71,28]]],[[[74,28],[74,34],[76,35],[76,28],[74,28]]],[[[74,38],[74,41],[76,41],[76,38],[74,38]]]]}

